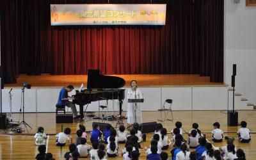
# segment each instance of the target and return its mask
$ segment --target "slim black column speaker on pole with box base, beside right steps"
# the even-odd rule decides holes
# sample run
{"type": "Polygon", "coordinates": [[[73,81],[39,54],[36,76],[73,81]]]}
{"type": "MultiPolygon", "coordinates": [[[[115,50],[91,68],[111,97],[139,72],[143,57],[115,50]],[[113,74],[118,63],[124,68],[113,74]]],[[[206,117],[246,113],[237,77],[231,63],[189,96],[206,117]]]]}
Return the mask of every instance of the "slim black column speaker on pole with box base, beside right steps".
{"type": "Polygon", "coordinates": [[[235,111],[235,86],[236,86],[236,64],[233,64],[233,75],[231,77],[231,86],[233,87],[233,109],[228,111],[228,125],[237,126],[238,125],[238,112],[235,111]]]}

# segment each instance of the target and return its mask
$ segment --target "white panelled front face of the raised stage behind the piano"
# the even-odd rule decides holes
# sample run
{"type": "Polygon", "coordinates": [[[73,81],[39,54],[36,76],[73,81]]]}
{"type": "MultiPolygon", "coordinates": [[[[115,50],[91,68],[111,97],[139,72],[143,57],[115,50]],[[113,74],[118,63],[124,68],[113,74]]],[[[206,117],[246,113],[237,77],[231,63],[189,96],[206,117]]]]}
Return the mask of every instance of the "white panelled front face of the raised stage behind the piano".
{"type": "MultiPolygon", "coordinates": [[[[127,109],[127,88],[122,109],[127,109]]],[[[163,106],[164,100],[173,99],[173,110],[226,110],[228,103],[227,86],[173,86],[173,87],[141,87],[145,99],[141,108],[143,111],[157,111],[163,106]]],[[[3,112],[10,112],[8,92],[10,88],[3,89],[3,112]]],[[[25,112],[54,112],[60,88],[31,88],[25,89],[25,112]]],[[[20,110],[21,89],[12,90],[12,112],[20,110]]],[[[69,93],[74,95],[75,91],[69,93]]],[[[106,100],[89,104],[87,111],[98,111],[100,105],[106,105],[106,100]]],[[[166,105],[168,106],[168,105],[166,105]]],[[[109,111],[118,111],[118,103],[108,100],[109,111]]],[[[70,109],[68,109],[70,111],[70,109]]],[[[77,106],[79,111],[79,106],[77,106]]],[[[100,109],[101,111],[101,109],[100,109]]]]}

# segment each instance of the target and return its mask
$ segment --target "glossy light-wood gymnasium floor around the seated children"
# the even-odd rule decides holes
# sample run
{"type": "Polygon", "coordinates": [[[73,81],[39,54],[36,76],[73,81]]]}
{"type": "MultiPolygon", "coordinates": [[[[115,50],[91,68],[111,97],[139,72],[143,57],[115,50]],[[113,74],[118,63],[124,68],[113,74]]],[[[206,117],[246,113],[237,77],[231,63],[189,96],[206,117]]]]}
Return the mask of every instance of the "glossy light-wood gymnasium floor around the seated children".
{"type": "MultiPolygon", "coordinates": [[[[184,129],[184,138],[188,139],[188,132],[191,129],[193,122],[199,124],[199,128],[202,132],[206,133],[206,137],[211,141],[211,131],[212,124],[214,122],[220,122],[221,129],[225,132],[224,136],[235,137],[236,141],[234,144],[237,148],[243,148],[246,153],[246,159],[255,159],[256,156],[256,111],[239,111],[239,122],[245,120],[248,123],[248,127],[252,129],[252,141],[250,143],[239,143],[235,132],[239,127],[228,127],[227,126],[227,114],[226,111],[221,113],[220,111],[173,111],[173,122],[163,122],[162,124],[168,132],[170,132],[175,127],[175,122],[182,122],[182,128],[184,129]]],[[[156,121],[157,114],[155,111],[143,111],[143,122],[152,122],[156,121]]],[[[125,113],[123,113],[125,115],[125,113]]],[[[14,121],[21,121],[22,116],[20,117],[19,113],[15,113],[13,117],[14,121]],[[20,119],[19,119],[20,118],[20,119]]],[[[65,147],[56,147],[54,134],[61,131],[61,124],[55,123],[55,113],[26,113],[25,121],[31,125],[32,129],[29,129],[29,132],[23,132],[19,135],[9,135],[4,134],[4,131],[1,131],[0,135],[0,159],[35,159],[36,154],[38,154],[37,147],[35,145],[35,135],[36,129],[39,126],[43,126],[45,133],[49,135],[47,140],[47,152],[51,152],[55,159],[64,159],[63,156],[65,152],[68,151],[68,145],[65,147]]],[[[86,126],[86,131],[90,132],[92,130],[92,122],[101,122],[100,120],[89,120],[86,118],[86,121],[81,122],[81,124],[86,126]]],[[[124,121],[126,125],[126,120],[124,121]]],[[[109,124],[115,126],[115,122],[109,122],[109,124]]],[[[72,129],[72,136],[76,137],[76,131],[79,129],[79,123],[73,124],[63,124],[63,128],[70,127],[72,129]]],[[[170,134],[168,134],[170,136],[170,134]]],[[[147,134],[147,141],[141,143],[143,147],[149,146],[149,139],[153,134],[147,134]]],[[[170,136],[171,138],[171,136],[170,136]]],[[[90,140],[90,136],[88,137],[90,140]]],[[[212,143],[214,147],[221,147],[225,145],[225,141],[222,143],[212,143]]],[[[124,145],[119,145],[118,158],[109,158],[109,159],[122,159],[121,149],[124,148],[124,145]]],[[[172,148],[172,147],[171,147],[172,148]]],[[[170,155],[170,149],[166,150],[170,155]]],[[[141,156],[140,159],[145,159],[146,154],[145,150],[140,150],[141,156]]],[[[89,158],[81,158],[89,159],[89,158]]]]}

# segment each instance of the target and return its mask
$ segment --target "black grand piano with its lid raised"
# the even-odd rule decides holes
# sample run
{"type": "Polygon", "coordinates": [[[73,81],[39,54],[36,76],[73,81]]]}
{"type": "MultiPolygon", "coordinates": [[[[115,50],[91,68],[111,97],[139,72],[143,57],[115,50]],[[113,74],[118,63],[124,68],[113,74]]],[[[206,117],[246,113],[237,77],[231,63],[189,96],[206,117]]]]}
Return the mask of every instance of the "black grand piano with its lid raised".
{"type": "Polygon", "coordinates": [[[88,70],[87,89],[72,95],[73,104],[79,105],[81,118],[84,117],[83,106],[98,100],[114,100],[119,102],[119,115],[122,115],[122,102],[125,90],[118,89],[125,85],[124,79],[115,76],[104,76],[100,70],[88,70]]]}

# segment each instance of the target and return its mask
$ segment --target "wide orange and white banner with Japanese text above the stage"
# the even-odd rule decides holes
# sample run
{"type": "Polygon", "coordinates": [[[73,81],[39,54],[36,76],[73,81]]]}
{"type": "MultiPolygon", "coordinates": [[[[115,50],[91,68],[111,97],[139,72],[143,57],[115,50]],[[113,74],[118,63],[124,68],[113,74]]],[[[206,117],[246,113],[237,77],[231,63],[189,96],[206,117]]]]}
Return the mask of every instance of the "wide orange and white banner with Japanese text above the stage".
{"type": "Polygon", "coordinates": [[[51,25],[165,25],[166,4],[51,4],[51,25]]]}

